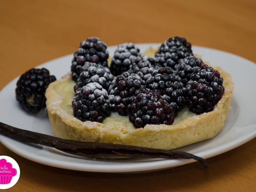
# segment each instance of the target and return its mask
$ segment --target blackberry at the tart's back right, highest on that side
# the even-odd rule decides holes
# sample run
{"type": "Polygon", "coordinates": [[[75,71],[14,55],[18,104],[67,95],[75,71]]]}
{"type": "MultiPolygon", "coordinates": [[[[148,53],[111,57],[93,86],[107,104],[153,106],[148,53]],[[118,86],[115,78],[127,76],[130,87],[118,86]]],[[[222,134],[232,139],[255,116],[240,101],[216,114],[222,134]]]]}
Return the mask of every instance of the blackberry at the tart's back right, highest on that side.
{"type": "Polygon", "coordinates": [[[178,60],[193,55],[191,43],[182,37],[172,37],[161,44],[155,54],[160,66],[169,66],[175,69],[178,60]]]}

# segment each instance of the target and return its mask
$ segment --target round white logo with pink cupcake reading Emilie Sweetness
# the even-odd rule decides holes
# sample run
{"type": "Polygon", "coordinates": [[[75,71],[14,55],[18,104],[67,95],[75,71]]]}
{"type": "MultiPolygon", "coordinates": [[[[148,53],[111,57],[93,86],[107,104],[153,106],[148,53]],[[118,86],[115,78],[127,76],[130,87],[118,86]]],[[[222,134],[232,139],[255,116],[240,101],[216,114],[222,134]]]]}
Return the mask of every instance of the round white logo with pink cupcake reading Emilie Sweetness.
{"type": "Polygon", "coordinates": [[[17,162],[8,156],[0,156],[0,189],[11,188],[20,177],[20,168],[17,162]]]}

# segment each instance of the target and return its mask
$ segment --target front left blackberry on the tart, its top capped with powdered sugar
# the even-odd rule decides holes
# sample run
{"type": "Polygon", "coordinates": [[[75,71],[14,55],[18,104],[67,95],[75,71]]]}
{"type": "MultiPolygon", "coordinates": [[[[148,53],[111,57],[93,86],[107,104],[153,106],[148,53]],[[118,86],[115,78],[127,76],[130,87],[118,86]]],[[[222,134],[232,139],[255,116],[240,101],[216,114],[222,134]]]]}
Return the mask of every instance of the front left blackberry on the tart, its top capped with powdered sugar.
{"type": "Polygon", "coordinates": [[[108,92],[96,82],[88,83],[76,92],[72,108],[74,116],[83,122],[102,122],[111,112],[108,92]]]}

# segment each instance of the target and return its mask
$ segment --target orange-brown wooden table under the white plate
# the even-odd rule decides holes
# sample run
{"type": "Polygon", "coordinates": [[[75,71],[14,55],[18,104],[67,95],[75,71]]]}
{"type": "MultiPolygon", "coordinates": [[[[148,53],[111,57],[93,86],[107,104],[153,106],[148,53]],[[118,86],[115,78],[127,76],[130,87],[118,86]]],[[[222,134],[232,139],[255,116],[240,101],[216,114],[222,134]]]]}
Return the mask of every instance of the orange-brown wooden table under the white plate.
{"type": "MultiPolygon", "coordinates": [[[[231,52],[256,62],[254,0],[2,0],[0,89],[25,70],[71,54],[97,36],[108,46],[186,37],[193,45],[231,52]]],[[[13,192],[256,191],[256,138],[208,159],[146,174],[106,174],[53,168],[29,161],[0,144],[0,155],[20,166],[13,192]]]]}

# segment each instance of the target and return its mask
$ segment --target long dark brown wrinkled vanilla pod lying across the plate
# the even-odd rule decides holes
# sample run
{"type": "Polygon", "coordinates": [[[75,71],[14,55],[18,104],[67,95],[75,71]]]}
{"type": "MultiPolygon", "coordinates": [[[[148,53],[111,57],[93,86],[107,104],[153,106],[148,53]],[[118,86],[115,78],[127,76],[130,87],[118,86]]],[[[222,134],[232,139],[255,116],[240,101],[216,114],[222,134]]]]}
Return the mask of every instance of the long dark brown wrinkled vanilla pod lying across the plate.
{"type": "Polygon", "coordinates": [[[191,153],[183,151],[161,150],[154,148],[145,148],[139,146],[130,146],[122,144],[110,144],[99,142],[82,142],[68,140],[42,133],[36,133],[24,129],[19,129],[0,122],[0,134],[13,138],[20,142],[40,144],[43,146],[56,148],[57,150],[80,155],[85,157],[143,157],[143,158],[164,158],[164,159],[195,159],[208,168],[207,162],[191,153]]]}

